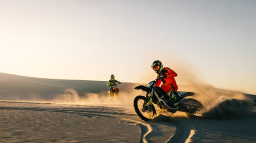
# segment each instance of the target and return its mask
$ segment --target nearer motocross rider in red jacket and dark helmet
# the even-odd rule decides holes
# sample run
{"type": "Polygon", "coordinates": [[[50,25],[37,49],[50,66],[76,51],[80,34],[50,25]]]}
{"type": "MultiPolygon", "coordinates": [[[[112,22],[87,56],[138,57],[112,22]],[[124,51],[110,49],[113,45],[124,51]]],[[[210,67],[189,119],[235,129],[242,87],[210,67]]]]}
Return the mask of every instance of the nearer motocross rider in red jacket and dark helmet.
{"type": "Polygon", "coordinates": [[[158,74],[157,78],[163,76],[156,82],[156,86],[160,87],[169,96],[168,99],[165,99],[165,103],[172,108],[177,108],[176,106],[180,103],[174,94],[178,89],[178,85],[174,79],[177,74],[169,67],[163,67],[163,64],[159,60],[152,63],[152,68],[158,74]]]}

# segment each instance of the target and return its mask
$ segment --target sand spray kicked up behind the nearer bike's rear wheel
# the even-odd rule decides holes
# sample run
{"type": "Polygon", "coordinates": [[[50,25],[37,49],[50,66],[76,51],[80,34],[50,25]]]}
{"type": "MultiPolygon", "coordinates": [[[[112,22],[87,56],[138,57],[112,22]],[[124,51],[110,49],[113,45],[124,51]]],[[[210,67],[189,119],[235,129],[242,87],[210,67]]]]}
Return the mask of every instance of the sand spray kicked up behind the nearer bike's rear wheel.
{"type": "Polygon", "coordinates": [[[180,86],[182,91],[195,92],[192,98],[199,100],[204,109],[204,118],[233,119],[249,115],[254,102],[246,95],[237,91],[228,91],[214,86],[197,82],[196,78],[188,80],[189,85],[180,86]]]}

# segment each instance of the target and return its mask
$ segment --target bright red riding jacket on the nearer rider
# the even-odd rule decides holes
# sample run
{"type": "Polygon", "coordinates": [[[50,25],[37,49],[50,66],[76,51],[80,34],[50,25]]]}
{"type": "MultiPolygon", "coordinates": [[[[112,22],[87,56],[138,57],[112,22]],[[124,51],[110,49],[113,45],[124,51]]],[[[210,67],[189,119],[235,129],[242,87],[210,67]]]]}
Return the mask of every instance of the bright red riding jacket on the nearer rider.
{"type": "Polygon", "coordinates": [[[161,72],[161,75],[163,74],[165,74],[165,77],[158,80],[156,82],[156,86],[160,86],[166,93],[170,92],[170,89],[176,92],[178,90],[178,85],[176,84],[174,77],[176,77],[177,74],[169,67],[164,67],[163,71],[161,72]]]}

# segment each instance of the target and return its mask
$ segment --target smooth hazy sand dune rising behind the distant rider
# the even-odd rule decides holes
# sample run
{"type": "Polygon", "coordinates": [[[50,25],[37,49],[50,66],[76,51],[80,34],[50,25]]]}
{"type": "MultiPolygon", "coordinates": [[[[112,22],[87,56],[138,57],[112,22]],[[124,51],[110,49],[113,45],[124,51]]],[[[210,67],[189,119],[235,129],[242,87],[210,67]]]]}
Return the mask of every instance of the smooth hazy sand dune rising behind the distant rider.
{"type": "MultiPolygon", "coordinates": [[[[122,82],[120,89],[128,92],[135,84],[122,82]]],[[[0,97],[13,100],[52,100],[66,89],[74,89],[78,95],[107,92],[107,81],[55,80],[0,73],[0,97]]]]}

